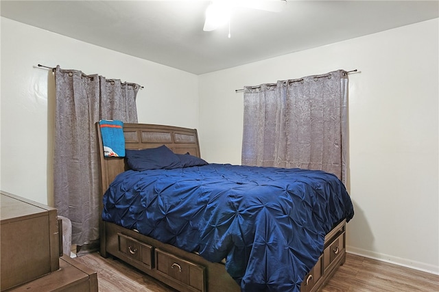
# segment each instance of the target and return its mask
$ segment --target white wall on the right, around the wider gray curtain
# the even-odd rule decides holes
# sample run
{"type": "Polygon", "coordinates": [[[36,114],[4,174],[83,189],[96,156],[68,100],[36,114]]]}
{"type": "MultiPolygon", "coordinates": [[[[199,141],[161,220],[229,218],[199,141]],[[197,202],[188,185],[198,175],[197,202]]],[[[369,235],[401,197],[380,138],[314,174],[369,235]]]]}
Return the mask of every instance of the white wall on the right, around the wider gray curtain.
{"type": "Polygon", "coordinates": [[[438,274],[438,27],[435,19],[200,75],[204,159],[241,162],[235,89],[358,69],[349,75],[348,251],[438,274]]]}

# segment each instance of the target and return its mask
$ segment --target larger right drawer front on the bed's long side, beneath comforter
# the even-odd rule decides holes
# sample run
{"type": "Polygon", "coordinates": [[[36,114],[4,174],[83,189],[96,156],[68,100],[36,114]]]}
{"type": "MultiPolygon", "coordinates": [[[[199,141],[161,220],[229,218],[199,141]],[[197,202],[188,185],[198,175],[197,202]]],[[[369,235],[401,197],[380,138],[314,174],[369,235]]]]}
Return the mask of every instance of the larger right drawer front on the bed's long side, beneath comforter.
{"type": "Polygon", "coordinates": [[[159,249],[155,250],[155,258],[158,274],[182,284],[190,291],[206,291],[204,267],[159,249]]]}

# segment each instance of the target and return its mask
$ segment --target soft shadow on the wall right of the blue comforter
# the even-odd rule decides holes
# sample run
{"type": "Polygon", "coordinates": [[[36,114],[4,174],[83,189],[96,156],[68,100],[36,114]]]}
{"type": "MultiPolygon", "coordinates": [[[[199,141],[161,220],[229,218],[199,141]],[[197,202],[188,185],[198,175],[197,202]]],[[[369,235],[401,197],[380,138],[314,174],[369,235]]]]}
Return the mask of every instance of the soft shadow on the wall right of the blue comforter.
{"type": "Polygon", "coordinates": [[[359,207],[353,198],[351,198],[354,206],[355,215],[347,224],[346,232],[346,249],[347,252],[360,254],[361,250],[372,251],[375,237],[372,229],[368,224],[364,211],[359,207]],[[359,243],[361,245],[359,245],[359,243]]]}

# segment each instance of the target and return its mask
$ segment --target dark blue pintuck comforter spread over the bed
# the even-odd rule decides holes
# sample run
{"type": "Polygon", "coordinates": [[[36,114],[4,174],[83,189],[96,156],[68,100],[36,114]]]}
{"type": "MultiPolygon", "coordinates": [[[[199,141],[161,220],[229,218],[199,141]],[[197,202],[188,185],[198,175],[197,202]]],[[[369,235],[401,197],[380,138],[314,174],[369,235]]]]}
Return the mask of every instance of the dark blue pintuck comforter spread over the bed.
{"type": "Polygon", "coordinates": [[[209,164],[123,172],[102,217],[208,261],[226,258],[242,291],[300,291],[324,236],[353,205],[326,172],[209,164]]]}

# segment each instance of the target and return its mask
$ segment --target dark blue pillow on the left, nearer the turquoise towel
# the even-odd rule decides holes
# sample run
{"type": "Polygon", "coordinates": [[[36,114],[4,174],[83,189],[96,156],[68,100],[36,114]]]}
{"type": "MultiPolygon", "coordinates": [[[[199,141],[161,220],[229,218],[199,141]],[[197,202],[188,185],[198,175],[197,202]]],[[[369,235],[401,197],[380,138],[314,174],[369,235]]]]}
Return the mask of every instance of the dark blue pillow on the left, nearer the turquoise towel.
{"type": "Polygon", "coordinates": [[[165,145],[143,150],[126,149],[125,157],[128,166],[132,170],[171,170],[173,168],[181,168],[178,156],[165,145]]]}

